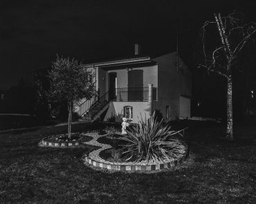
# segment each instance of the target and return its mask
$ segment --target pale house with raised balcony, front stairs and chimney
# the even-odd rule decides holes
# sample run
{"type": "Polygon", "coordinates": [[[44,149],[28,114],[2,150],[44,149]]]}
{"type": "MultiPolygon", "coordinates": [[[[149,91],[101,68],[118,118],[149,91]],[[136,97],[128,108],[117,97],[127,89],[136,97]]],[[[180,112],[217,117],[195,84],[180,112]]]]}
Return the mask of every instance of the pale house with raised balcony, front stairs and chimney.
{"type": "Polygon", "coordinates": [[[165,119],[190,117],[192,76],[176,52],[160,57],[134,55],[86,64],[95,73],[98,96],[83,99],[76,111],[82,119],[138,123],[156,110],[165,119]]]}

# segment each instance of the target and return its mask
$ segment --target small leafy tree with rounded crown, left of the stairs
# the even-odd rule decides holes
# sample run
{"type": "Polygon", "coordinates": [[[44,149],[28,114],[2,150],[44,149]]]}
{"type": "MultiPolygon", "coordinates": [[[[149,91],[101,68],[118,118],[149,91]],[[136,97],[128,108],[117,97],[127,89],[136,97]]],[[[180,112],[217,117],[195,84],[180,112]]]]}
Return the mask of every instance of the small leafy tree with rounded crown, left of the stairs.
{"type": "Polygon", "coordinates": [[[68,103],[68,138],[71,139],[73,101],[95,94],[93,73],[75,59],[57,57],[48,77],[51,100],[68,103]]]}

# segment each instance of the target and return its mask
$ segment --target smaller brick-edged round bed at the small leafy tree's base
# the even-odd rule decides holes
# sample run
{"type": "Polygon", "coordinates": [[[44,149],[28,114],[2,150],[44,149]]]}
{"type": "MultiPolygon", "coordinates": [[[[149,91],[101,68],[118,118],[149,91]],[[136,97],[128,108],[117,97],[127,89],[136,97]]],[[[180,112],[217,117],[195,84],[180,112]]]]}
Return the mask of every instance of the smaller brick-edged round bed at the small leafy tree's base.
{"type": "Polygon", "coordinates": [[[71,138],[67,134],[56,134],[42,139],[41,144],[49,147],[73,147],[91,141],[93,137],[84,133],[73,133],[71,138]]]}

